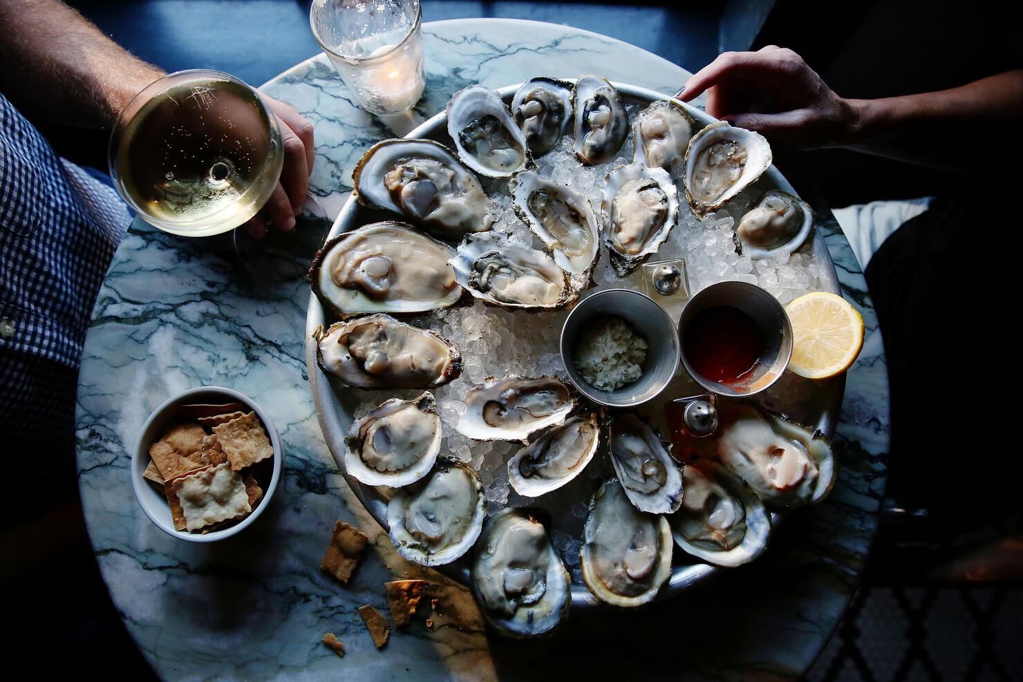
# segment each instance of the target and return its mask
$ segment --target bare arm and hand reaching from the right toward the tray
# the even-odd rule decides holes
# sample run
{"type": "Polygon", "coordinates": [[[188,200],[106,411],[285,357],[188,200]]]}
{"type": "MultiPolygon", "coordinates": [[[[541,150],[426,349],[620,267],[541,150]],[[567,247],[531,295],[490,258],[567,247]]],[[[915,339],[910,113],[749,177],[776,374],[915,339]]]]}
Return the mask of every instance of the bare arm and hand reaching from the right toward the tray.
{"type": "Polygon", "coordinates": [[[1008,148],[993,151],[987,134],[991,124],[1016,125],[1023,119],[1023,71],[941,92],[848,99],[829,88],[798,54],[771,45],[721,54],[685,86],[686,101],[707,92],[712,116],[804,148],[844,146],[962,170],[964,163],[981,155],[994,168],[1005,168],[1016,155],[1011,151],[1023,146],[998,136],[1008,148]],[[971,134],[971,126],[978,134],[971,134]]]}

